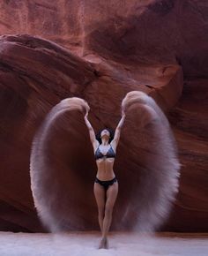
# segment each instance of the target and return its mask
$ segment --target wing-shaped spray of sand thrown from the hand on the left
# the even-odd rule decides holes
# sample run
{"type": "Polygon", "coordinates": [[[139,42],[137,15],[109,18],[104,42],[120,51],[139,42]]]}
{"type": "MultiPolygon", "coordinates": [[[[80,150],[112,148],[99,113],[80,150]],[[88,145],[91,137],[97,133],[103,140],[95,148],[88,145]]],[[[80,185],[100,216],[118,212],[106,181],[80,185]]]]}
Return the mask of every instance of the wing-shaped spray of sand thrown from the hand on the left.
{"type": "MultiPolygon", "coordinates": [[[[51,135],[56,136],[53,126],[56,126],[57,119],[63,116],[65,112],[71,110],[84,112],[86,109],[89,109],[88,104],[80,98],[64,99],[50,110],[33,139],[30,176],[34,205],[37,208],[41,222],[52,232],[63,230],[64,226],[66,230],[67,227],[70,229],[71,222],[74,221],[66,222],[67,214],[64,215],[66,207],[64,208],[63,205],[69,203],[69,201],[64,198],[63,184],[58,184],[62,183],[63,179],[57,180],[57,174],[53,169],[53,159],[48,154],[51,135]],[[63,192],[63,195],[60,195],[60,192],[63,192]],[[63,200],[59,207],[58,200],[63,200]]],[[[60,173],[59,176],[62,176],[62,174],[60,173]]]]}

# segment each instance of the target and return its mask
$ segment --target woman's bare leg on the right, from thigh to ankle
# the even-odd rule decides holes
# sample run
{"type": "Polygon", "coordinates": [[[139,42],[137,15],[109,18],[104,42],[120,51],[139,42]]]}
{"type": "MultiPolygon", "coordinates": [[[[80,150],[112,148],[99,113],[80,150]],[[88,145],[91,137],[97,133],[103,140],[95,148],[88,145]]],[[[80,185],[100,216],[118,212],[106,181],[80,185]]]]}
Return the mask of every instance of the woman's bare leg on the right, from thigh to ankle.
{"type": "Polygon", "coordinates": [[[118,183],[115,182],[108,186],[107,200],[105,205],[105,217],[103,220],[102,238],[107,239],[108,230],[112,221],[113,207],[118,193],[118,183]]]}

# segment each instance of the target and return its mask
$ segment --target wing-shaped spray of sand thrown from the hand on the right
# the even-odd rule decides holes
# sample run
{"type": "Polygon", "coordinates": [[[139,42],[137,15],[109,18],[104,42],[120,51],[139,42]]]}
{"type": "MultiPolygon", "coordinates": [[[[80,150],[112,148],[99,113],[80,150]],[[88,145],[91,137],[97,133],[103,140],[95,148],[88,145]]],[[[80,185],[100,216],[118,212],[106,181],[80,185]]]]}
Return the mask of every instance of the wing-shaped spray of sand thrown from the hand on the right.
{"type": "Polygon", "coordinates": [[[140,180],[134,203],[126,208],[125,215],[137,213],[134,230],[152,231],[165,222],[178,192],[181,164],[175,138],[167,117],[147,94],[131,91],[122,108],[130,121],[125,124],[125,134],[136,138],[128,144],[137,157],[140,180]]]}

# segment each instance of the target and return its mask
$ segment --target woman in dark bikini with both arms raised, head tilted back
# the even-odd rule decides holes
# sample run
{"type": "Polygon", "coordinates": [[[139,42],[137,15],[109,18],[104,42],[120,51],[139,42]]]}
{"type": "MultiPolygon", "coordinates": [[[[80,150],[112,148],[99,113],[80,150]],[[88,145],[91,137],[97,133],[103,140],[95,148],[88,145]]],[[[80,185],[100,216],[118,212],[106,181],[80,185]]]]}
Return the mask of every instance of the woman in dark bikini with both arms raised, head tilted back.
{"type": "Polygon", "coordinates": [[[121,118],[115,129],[115,135],[109,129],[102,130],[96,139],[93,127],[85,114],[85,124],[90,133],[98,171],[94,182],[93,192],[98,205],[98,220],[101,230],[99,248],[108,248],[108,230],[112,220],[113,207],[118,193],[118,182],[114,173],[115,151],[120,138],[121,128],[125,119],[121,118]],[[99,142],[100,140],[100,142],[99,142]]]}

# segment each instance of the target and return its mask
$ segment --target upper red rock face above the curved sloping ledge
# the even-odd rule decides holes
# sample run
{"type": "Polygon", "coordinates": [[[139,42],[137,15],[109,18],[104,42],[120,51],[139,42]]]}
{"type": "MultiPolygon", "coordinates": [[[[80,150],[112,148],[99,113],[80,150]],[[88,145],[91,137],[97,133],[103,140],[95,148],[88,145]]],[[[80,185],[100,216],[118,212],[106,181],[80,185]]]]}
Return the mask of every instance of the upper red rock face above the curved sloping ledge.
{"type": "Polygon", "coordinates": [[[187,76],[207,73],[204,0],[4,0],[0,10],[0,34],[39,35],[84,57],[180,62],[187,76]]]}

